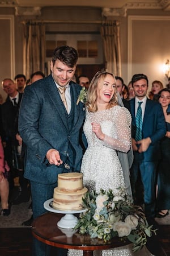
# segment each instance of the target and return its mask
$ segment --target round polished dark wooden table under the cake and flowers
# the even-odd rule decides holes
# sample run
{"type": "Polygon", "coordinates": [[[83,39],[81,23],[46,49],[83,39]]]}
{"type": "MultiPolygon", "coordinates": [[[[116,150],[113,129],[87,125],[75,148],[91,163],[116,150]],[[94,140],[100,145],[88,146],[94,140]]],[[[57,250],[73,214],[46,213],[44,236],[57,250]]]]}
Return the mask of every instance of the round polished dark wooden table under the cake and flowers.
{"type": "MultiPolygon", "coordinates": [[[[90,238],[89,235],[74,233],[73,236],[66,236],[58,228],[57,222],[63,217],[63,214],[47,212],[37,217],[32,222],[32,234],[37,240],[47,245],[56,246],[63,249],[83,250],[84,256],[92,256],[94,250],[104,250],[114,247],[120,247],[129,244],[122,242],[120,238],[114,237],[111,241],[104,242],[98,238],[90,238]]],[[[71,232],[72,230],[68,230],[71,232]]]]}

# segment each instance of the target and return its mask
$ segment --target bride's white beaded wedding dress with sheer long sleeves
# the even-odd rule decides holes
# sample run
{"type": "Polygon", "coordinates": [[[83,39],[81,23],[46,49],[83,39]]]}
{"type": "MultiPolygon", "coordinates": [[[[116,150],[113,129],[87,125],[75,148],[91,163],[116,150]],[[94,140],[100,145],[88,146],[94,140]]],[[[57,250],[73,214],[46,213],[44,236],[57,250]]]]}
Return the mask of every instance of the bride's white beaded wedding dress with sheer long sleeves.
{"type": "MultiPolygon", "coordinates": [[[[131,115],[128,109],[121,106],[113,106],[111,109],[87,112],[84,123],[84,133],[87,138],[88,148],[83,156],[81,172],[83,172],[83,185],[88,191],[100,188],[113,193],[118,192],[118,187],[124,187],[124,174],[117,151],[127,152],[131,142],[131,115]],[[91,123],[100,123],[101,130],[105,134],[104,141],[100,141],[92,133],[91,123]]],[[[152,255],[146,247],[133,253],[132,245],[114,249],[94,251],[94,256],[143,256],[152,255]]],[[[83,256],[81,250],[69,250],[68,256],[83,256]]]]}

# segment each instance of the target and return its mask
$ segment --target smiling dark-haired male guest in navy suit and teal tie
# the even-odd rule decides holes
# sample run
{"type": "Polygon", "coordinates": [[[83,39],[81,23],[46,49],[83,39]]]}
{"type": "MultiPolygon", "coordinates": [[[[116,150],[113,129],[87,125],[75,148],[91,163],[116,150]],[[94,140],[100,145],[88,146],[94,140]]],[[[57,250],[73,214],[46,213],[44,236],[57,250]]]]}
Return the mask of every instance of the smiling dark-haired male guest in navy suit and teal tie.
{"type": "MultiPolygon", "coordinates": [[[[146,75],[136,74],[132,77],[135,98],[130,100],[132,116],[132,147],[134,162],[131,167],[131,188],[134,199],[135,185],[139,173],[144,189],[145,214],[148,219],[155,216],[156,168],[160,159],[159,141],[166,133],[165,119],[161,105],[146,97],[148,79],[146,75]],[[138,102],[142,108],[142,138],[137,141],[137,109],[138,102]]],[[[142,191],[141,191],[142,193],[142,191]]]]}

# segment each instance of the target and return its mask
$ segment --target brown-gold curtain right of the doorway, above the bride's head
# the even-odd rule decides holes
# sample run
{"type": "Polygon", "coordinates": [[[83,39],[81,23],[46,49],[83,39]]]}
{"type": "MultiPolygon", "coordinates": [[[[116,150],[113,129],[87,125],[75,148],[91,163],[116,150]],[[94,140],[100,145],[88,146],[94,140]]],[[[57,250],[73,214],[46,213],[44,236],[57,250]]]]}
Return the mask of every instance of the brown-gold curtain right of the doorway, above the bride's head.
{"type": "Polygon", "coordinates": [[[105,57],[105,70],[121,76],[120,24],[107,20],[101,25],[105,57]]]}

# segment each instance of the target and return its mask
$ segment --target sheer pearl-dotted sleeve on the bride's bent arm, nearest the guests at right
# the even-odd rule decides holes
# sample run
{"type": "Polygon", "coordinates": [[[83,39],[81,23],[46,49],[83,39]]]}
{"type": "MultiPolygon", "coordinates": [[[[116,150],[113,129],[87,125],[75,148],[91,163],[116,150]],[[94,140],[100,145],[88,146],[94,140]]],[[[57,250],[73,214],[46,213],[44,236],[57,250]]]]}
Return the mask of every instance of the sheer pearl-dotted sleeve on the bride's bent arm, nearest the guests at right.
{"type": "Polygon", "coordinates": [[[128,152],[131,145],[131,115],[128,109],[118,108],[114,112],[113,122],[116,125],[116,137],[105,135],[103,145],[121,152],[128,152]]]}

